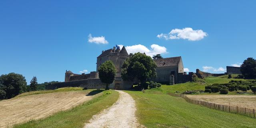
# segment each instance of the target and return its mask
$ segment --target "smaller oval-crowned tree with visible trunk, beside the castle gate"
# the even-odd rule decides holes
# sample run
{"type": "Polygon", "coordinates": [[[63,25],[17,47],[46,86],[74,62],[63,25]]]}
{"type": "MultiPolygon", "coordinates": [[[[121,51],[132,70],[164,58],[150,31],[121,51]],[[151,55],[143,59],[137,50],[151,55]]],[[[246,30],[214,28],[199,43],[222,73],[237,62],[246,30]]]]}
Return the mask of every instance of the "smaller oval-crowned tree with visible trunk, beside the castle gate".
{"type": "Polygon", "coordinates": [[[109,90],[108,85],[113,83],[116,76],[116,67],[113,62],[108,60],[100,65],[98,70],[99,77],[102,83],[106,83],[106,90],[109,90]]]}

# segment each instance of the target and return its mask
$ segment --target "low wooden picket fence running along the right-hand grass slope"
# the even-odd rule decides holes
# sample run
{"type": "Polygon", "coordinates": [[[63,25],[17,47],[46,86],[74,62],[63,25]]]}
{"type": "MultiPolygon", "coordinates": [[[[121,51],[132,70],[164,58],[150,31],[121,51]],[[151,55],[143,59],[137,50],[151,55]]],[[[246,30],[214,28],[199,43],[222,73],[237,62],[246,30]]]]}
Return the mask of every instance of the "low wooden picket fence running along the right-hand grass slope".
{"type": "Polygon", "coordinates": [[[192,104],[197,104],[197,105],[202,105],[206,106],[207,108],[212,108],[215,110],[221,110],[224,112],[231,112],[231,113],[236,113],[236,114],[241,114],[245,116],[250,116],[252,118],[256,118],[256,110],[253,108],[244,108],[244,107],[238,107],[238,106],[230,106],[230,105],[224,105],[224,104],[216,104],[216,103],[210,103],[206,101],[200,101],[200,100],[194,100],[191,98],[188,98],[185,94],[174,94],[174,93],[168,93],[171,96],[176,96],[176,97],[182,97],[184,98],[187,102],[192,103],[192,104]]]}

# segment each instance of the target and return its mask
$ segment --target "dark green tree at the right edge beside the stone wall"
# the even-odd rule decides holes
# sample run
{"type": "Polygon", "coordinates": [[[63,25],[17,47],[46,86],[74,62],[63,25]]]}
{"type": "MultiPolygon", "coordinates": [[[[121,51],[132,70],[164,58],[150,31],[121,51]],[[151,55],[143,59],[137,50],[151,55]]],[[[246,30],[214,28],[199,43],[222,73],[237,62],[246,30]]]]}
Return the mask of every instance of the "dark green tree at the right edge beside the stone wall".
{"type": "Polygon", "coordinates": [[[254,79],[256,78],[256,60],[254,58],[247,58],[241,65],[241,72],[244,78],[254,79]]]}

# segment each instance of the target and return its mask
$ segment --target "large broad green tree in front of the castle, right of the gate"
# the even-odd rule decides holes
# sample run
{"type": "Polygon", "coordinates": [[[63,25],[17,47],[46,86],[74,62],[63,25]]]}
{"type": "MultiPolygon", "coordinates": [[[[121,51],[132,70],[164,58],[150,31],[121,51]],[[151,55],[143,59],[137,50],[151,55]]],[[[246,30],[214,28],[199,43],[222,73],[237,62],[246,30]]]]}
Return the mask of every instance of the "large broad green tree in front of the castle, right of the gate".
{"type": "Polygon", "coordinates": [[[137,78],[141,83],[145,83],[149,78],[156,78],[156,67],[156,63],[150,56],[138,52],[124,61],[122,78],[132,81],[137,78]]]}

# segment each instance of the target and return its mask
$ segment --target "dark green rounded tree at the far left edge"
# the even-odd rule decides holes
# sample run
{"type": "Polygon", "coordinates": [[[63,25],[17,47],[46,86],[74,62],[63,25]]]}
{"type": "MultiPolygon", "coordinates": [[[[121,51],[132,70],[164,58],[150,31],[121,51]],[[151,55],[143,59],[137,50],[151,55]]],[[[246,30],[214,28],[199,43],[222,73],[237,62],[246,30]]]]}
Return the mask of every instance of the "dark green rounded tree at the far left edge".
{"type": "MultiPolygon", "coordinates": [[[[27,82],[24,76],[16,73],[9,73],[0,76],[1,89],[6,92],[5,98],[12,98],[20,93],[26,92],[27,82]]],[[[3,91],[1,91],[3,92],[3,91]]]]}

